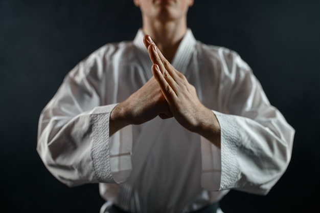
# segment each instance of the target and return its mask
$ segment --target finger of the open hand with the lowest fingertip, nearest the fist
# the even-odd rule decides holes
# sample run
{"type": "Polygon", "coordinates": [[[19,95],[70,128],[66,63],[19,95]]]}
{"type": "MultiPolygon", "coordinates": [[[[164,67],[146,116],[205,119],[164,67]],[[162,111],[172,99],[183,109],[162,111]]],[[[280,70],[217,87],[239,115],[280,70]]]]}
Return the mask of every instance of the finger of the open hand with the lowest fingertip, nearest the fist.
{"type": "Polygon", "coordinates": [[[176,93],[168,83],[167,79],[164,77],[162,72],[160,71],[158,65],[152,65],[152,73],[154,78],[157,80],[159,87],[164,95],[165,99],[167,100],[168,104],[171,105],[173,100],[177,98],[176,93]]]}

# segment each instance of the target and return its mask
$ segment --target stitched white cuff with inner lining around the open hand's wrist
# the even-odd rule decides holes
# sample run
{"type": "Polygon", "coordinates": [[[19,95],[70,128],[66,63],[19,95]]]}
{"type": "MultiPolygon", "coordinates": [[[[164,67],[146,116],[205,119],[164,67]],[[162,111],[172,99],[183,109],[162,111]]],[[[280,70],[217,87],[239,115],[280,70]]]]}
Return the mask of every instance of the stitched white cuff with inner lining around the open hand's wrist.
{"type": "Polygon", "coordinates": [[[207,190],[216,191],[232,188],[238,180],[239,133],[234,116],[213,112],[220,124],[221,149],[201,137],[201,186],[207,190]]]}

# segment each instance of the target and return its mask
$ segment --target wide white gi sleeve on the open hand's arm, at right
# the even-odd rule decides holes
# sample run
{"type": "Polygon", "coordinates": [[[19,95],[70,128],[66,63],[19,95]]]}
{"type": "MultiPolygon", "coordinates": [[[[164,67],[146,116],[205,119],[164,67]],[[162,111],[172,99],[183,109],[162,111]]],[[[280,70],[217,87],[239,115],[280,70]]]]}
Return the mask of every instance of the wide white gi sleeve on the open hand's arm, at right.
{"type": "Polygon", "coordinates": [[[201,137],[201,185],[264,195],[290,162],[294,130],[240,56],[234,54],[232,61],[221,76],[228,79],[219,91],[221,112],[213,111],[221,128],[221,150],[201,137]]]}

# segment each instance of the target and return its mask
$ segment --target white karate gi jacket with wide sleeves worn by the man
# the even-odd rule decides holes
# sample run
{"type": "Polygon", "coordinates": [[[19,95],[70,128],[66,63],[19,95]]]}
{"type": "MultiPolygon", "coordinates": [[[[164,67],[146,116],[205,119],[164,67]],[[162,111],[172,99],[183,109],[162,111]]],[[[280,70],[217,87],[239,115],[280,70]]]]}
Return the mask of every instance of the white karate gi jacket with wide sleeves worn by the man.
{"type": "Polygon", "coordinates": [[[290,161],[294,130],[237,53],[196,41],[190,29],[172,65],[216,114],[221,150],[174,118],[109,138],[113,107],[152,76],[142,38],[139,30],[133,42],[107,44],[66,76],[39,119],[49,171],[69,186],[99,182],[106,200],[130,211],[188,212],[231,188],[268,193],[290,161]]]}

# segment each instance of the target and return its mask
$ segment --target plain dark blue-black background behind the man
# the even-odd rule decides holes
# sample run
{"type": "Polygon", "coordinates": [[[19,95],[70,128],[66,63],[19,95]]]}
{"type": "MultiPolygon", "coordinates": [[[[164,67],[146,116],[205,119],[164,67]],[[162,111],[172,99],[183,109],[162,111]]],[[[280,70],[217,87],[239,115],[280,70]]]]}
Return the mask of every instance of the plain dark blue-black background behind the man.
{"type": "MultiPolygon", "coordinates": [[[[320,189],[320,1],[195,0],[189,27],[240,53],[296,130],[292,160],[267,196],[231,191],[224,212],[307,212],[320,189]],[[295,211],[294,211],[295,212],[295,211]]],[[[98,212],[97,184],[68,188],[36,153],[40,111],[63,77],[141,27],[132,0],[0,0],[0,211],[98,212]]]]}

